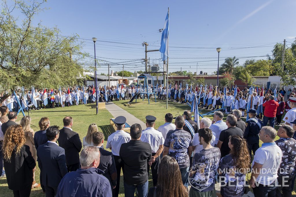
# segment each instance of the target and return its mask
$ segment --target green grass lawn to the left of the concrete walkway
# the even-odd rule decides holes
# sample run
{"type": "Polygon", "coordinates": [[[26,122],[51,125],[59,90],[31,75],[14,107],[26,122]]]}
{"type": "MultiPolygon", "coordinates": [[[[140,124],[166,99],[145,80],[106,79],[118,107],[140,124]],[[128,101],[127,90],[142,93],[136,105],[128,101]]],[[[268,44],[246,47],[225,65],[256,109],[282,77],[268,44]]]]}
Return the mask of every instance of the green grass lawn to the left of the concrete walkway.
{"type": "MultiPolygon", "coordinates": [[[[28,113],[26,113],[28,115],[28,113]]],[[[91,123],[96,123],[98,125],[99,131],[102,131],[105,136],[104,147],[106,147],[107,138],[110,133],[114,132],[113,127],[110,126],[110,118],[112,115],[106,109],[99,109],[99,114],[96,115],[95,105],[78,105],[65,108],[55,108],[55,109],[42,109],[38,111],[32,111],[30,117],[32,118],[31,126],[34,131],[39,131],[38,122],[41,117],[48,117],[51,125],[57,125],[60,128],[63,126],[63,118],[65,116],[72,116],[73,118],[73,131],[79,133],[80,139],[82,141],[83,137],[86,136],[87,129],[91,123]]],[[[18,120],[22,118],[22,113],[19,114],[18,120]]],[[[107,149],[110,151],[110,149],[107,149]]],[[[39,180],[40,170],[36,169],[36,182],[40,183],[39,180]]],[[[151,177],[149,178],[149,183],[152,182],[151,177]]],[[[8,189],[6,178],[0,179],[0,196],[13,196],[11,190],[8,189]]],[[[32,189],[31,196],[45,196],[42,192],[41,187],[32,189]]],[[[121,176],[120,184],[120,195],[124,196],[123,190],[123,176],[121,176]]]]}

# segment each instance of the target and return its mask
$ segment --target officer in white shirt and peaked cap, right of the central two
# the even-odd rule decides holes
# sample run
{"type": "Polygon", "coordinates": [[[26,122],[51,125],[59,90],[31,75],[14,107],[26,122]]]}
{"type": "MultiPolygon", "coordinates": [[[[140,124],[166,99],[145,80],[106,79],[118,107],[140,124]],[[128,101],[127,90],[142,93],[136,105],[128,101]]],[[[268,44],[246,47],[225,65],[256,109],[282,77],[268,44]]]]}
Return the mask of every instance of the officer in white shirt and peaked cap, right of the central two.
{"type": "Polygon", "coordinates": [[[141,141],[150,144],[152,149],[152,157],[148,162],[147,171],[149,174],[150,166],[152,172],[153,186],[157,185],[157,170],[160,162],[160,154],[163,152],[163,144],[165,140],[160,131],[154,129],[156,118],[152,115],[146,116],[146,129],[143,130],[141,141]]]}

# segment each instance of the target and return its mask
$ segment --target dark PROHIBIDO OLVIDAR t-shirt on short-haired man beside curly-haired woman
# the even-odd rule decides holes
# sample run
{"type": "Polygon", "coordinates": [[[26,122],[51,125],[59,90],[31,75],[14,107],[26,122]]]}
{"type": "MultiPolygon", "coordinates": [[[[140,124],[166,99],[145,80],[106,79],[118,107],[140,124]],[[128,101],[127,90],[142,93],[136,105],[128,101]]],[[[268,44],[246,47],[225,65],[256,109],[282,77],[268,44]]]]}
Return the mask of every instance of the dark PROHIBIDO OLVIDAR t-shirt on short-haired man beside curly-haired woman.
{"type": "Polygon", "coordinates": [[[194,154],[189,174],[189,183],[194,190],[206,192],[214,189],[220,157],[220,149],[216,147],[202,149],[194,154]]]}

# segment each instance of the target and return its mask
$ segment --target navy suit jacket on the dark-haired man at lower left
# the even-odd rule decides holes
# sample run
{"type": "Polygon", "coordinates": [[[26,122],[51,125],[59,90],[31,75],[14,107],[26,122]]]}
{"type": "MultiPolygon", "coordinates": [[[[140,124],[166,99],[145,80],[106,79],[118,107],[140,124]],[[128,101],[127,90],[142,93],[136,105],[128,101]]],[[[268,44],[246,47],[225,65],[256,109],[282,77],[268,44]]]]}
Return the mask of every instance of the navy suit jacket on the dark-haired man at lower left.
{"type": "Polygon", "coordinates": [[[68,172],[65,150],[57,144],[46,142],[38,147],[37,157],[40,161],[38,166],[42,173],[42,184],[57,187],[68,172]]]}

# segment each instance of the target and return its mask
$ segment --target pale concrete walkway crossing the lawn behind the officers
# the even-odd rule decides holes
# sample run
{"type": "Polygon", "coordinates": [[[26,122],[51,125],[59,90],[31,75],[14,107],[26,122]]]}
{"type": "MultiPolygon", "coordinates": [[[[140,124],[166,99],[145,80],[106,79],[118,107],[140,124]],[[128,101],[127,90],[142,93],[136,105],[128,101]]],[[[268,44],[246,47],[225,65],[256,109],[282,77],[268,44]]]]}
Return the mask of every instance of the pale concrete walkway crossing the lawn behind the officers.
{"type": "Polygon", "coordinates": [[[126,117],[126,123],[128,123],[130,126],[132,126],[135,123],[139,123],[143,130],[146,129],[146,123],[143,123],[140,119],[131,115],[126,110],[123,110],[118,105],[114,104],[113,102],[106,103],[106,109],[113,115],[114,118],[122,115],[122,116],[126,117]]]}

